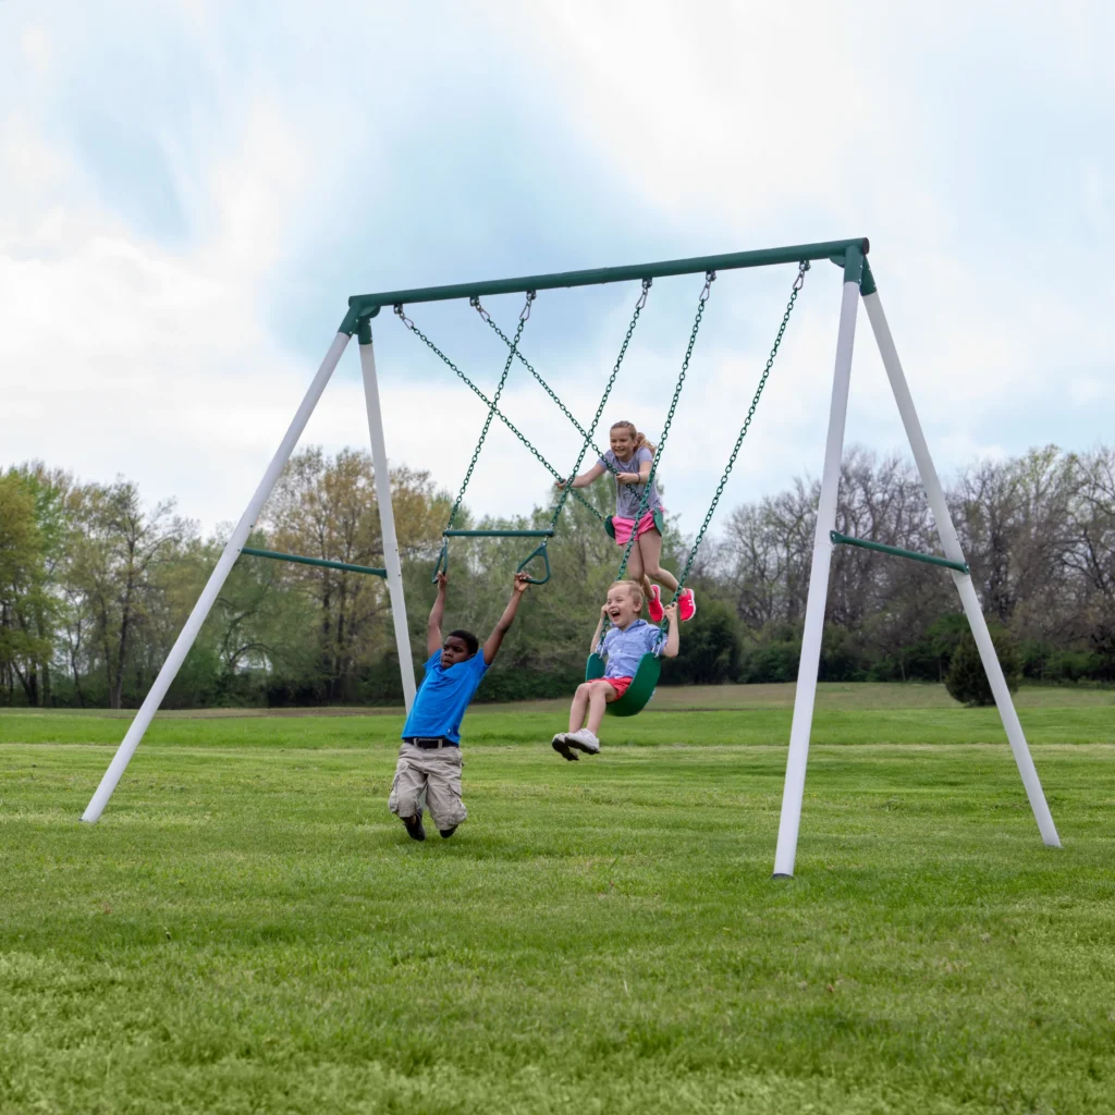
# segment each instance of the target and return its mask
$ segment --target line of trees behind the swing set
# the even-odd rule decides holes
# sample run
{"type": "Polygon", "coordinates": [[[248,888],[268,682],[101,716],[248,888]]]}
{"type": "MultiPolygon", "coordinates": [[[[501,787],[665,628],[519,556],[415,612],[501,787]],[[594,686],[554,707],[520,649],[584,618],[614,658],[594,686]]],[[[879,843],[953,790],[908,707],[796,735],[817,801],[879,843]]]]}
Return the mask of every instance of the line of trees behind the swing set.
{"type": "MultiPolygon", "coordinates": [[[[365,453],[297,454],[250,545],[351,564],[384,564],[375,476],[365,453]]],[[[796,677],[820,485],[797,478],[735,508],[690,574],[698,592],[663,683],[796,677]]],[[[411,642],[420,663],[430,572],[450,497],[428,473],[391,475],[411,642]]],[[[553,576],[532,590],[482,695],[565,696],[619,551],[598,484],[570,501],[550,544],[553,576]]],[[[962,471],[948,501],[997,638],[1039,682],[1115,680],[1115,450],[1032,449],[962,471]]],[[[517,520],[545,525],[540,506],[517,520]]],[[[938,552],[912,465],[851,449],[837,530],[938,552]]],[[[142,699],[224,546],[171,502],[145,503],[126,479],[83,483],[42,464],[0,476],[0,702],[133,707],[142,699]]],[[[667,564],[687,541],[668,526],[667,564]]],[[[455,540],[447,621],[485,634],[527,540],[455,540]]],[[[378,578],[241,556],[172,687],[171,707],[397,704],[401,685],[386,584],[378,578]]],[[[822,678],[942,680],[966,621],[948,573],[837,546],[822,678]]],[[[420,667],[419,667],[420,668],[420,667]]]]}

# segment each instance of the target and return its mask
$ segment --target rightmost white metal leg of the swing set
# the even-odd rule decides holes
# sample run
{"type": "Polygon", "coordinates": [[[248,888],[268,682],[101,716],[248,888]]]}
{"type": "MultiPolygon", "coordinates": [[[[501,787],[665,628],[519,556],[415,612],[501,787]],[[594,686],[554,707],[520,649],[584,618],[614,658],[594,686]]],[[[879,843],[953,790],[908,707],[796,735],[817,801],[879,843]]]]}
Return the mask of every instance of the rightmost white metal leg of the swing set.
{"type": "MultiPolygon", "coordinates": [[[[894,391],[894,399],[899,405],[899,413],[902,415],[902,425],[905,426],[906,437],[910,439],[910,448],[913,450],[918,472],[921,473],[921,482],[925,485],[929,506],[933,512],[933,521],[937,523],[937,532],[941,539],[944,555],[951,561],[963,561],[963,552],[960,547],[960,540],[957,537],[956,527],[952,525],[952,517],[949,515],[949,505],[944,498],[944,489],[941,487],[937,469],[933,467],[933,460],[929,455],[929,446],[925,444],[925,436],[922,433],[918,411],[914,409],[913,397],[910,395],[910,388],[902,371],[902,363],[899,360],[898,349],[894,347],[894,339],[891,337],[891,330],[886,323],[886,316],[883,313],[882,302],[879,300],[879,292],[875,291],[871,294],[865,294],[863,304],[867,310],[871,328],[874,330],[875,340],[879,343],[879,351],[891,381],[891,389],[894,391]]],[[[1026,796],[1029,798],[1030,808],[1034,811],[1034,820],[1038,823],[1041,840],[1049,847],[1060,847],[1057,827],[1054,824],[1053,814],[1049,812],[1049,805],[1045,799],[1045,793],[1041,789],[1041,782],[1038,778],[1037,768],[1034,766],[1030,749],[1026,744],[1026,736],[1018,720],[1015,702],[1010,698],[1010,690],[1007,688],[1007,680],[1002,675],[1002,667],[999,665],[999,656],[995,652],[995,643],[991,641],[991,633],[987,629],[987,621],[983,619],[983,610],[980,608],[979,598],[976,595],[972,579],[966,573],[954,572],[952,580],[960,592],[964,614],[968,617],[968,623],[971,626],[972,637],[976,639],[976,646],[979,648],[983,669],[987,671],[988,681],[991,683],[991,692],[995,695],[995,702],[999,708],[1002,726],[1007,730],[1007,739],[1010,740],[1010,749],[1014,753],[1015,763],[1018,765],[1018,772],[1022,776],[1022,785],[1026,787],[1026,796]]]]}

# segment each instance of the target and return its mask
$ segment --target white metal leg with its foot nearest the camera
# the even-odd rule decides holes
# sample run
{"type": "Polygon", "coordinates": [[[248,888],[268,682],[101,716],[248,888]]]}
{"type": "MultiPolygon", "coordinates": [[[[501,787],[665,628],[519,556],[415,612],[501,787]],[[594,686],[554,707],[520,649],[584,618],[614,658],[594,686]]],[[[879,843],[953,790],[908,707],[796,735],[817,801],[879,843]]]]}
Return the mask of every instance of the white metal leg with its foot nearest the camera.
{"type": "Polygon", "coordinates": [[[805,602],[805,631],[802,637],[802,658],[797,667],[794,721],[789,729],[789,755],[786,759],[786,783],[782,793],[778,846],[774,860],[776,878],[794,874],[794,859],[797,854],[797,832],[802,822],[802,797],[805,793],[805,764],[809,755],[809,729],[813,726],[813,704],[817,692],[821,636],[825,623],[828,566],[833,552],[828,532],[836,526],[836,494],[840,487],[841,457],[844,452],[844,421],[847,416],[852,347],[855,341],[855,314],[859,304],[859,283],[844,283],[840,332],[836,337],[836,369],[833,374],[833,394],[828,407],[825,468],[821,477],[821,502],[817,506],[817,529],[813,539],[809,591],[805,602]]]}

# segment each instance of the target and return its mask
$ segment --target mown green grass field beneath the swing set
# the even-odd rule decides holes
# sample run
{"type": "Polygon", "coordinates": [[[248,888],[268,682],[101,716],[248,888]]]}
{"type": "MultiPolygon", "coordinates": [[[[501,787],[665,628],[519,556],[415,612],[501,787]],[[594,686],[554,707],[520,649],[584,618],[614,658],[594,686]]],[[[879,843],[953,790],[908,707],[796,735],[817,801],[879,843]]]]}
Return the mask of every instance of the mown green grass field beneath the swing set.
{"type": "Polygon", "coordinates": [[[471,820],[387,813],[400,718],[0,712],[0,1112],[1115,1112],[1115,694],[661,691],[604,753],[476,706],[471,820]],[[638,737],[634,736],[638,733],[638,737]]]}

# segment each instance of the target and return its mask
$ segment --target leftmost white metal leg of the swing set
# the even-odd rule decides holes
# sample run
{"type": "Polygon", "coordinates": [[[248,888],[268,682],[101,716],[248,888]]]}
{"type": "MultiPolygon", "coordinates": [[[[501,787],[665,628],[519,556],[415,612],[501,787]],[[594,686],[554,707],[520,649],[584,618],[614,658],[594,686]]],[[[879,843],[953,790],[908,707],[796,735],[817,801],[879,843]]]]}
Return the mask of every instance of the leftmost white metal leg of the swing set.
{"type": "Polygon", "coordinates": [[[329,377],[333,374],[333,368],[337,367],[337,361],[340,360],[348,340],[348,333],[338,333],[329,351],[326,353],[324,360],[321,361],[321,367],[318,368],[318,374],[313,377],[313,382],[306,392],[306,398],[302,399],[302,405],[298,408],[294,420],[290,424],[285,437],[283,437],[282,443],[275,450],[274,457],[271,458],[268,471],[263,474],[263,479],[260,481],[255,494],[252,496],[244,514],[241,515],[240,522],[232,532],[232,536],[224,547],[224,553],[221,554],[221,560],[216,563],[216,569],[210,574],[209,582],[202,590],[197,603],[194,604],[194,610],[190,613],[190,618],[186,620],[174,647],[171,648],[171,653],[163,663],[163,668],[158,671],[155,683],[144,698],[139,711],[136,712],[135,719],[127,730],[127,735],[125,735],[123,743],[116,750],[116,755],[113,757],[113,762],[100,779],[97,792],[93,795],[85,813],[81,814],[83,821],[96,821],[104,812],[108,799],[113,796],[116,784],[120,780],[120,776],[124,774],[132,756],[139,746],[139,740],[143,739],[147,726],[158,710],[158,706],[163,704],[166,690],[169,689],[171,682],[182,667],[186,655],[190,652],[190,648],[194,644],[197,632],[201,630],[202,623],[205,622],[205,617],[209,615],[213,602],[216,600],[225,579],[229,576],[229,572],[240,556],[241,547],[248,541],[248,535],[255,525],[255,520],[259,517],[263,504],[266,502],[275,481],[279,478],[279,474],[283,471],[294,446],[298,444],[298,439],[301,437],[302,430],[310,419],[310,415],[313,414],[313,408],[318,405],[318,399],[321,398],[321,392],[326,389],[326,384],[329,382],[329,377]]]}

